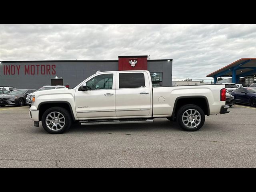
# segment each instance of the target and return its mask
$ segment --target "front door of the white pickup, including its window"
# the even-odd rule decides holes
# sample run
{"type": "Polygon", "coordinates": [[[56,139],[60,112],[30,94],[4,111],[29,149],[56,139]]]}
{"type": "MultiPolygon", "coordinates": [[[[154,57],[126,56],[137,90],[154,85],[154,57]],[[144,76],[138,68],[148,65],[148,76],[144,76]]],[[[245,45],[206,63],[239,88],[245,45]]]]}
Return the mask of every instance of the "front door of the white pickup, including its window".
{"type": "Polygon", "coordinates": [[[76,89],[75,105],[78,118],[116,117],[115,112],[115,81],[116,73],[93,76],[86,82],[87,89],[76,89]]]}

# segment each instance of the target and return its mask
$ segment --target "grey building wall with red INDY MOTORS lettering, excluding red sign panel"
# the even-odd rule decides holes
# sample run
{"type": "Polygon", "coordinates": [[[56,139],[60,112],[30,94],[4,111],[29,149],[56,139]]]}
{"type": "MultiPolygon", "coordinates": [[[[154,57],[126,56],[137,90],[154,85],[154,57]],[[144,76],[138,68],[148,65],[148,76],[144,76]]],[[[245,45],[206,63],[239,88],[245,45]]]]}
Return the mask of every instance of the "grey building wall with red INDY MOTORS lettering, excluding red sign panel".
{"type": "MultiPolygon", "coordinates": [[[[58,79],[63,79],[63,85],[68,84],[70,87],[74,87],[98,70],[101,72],[116,71],[118,70],[118,60],[2,62],[0,64],[0,85],[14,86],[18,89],[38,89],[44,85],[51,85],[51,79],[56,79],[57,76],[58,79]],[[43,70],[46,67],[48,71],[43,70]]],[[[162,85],[172,85],[172,61],[149,60],[148,70],[163,72],[162,85]]]]}

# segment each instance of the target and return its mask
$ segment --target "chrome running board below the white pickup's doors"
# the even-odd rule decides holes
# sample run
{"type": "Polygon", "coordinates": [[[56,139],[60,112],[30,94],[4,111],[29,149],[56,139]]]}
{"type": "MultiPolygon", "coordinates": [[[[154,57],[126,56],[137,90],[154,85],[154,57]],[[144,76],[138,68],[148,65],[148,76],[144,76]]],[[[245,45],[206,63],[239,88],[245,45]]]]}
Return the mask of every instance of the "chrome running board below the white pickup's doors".
{"type": "Polygon", "coordinates": [[[106,121],[82,121],[81,125],[124,124],[124,123],[153,123],[154,120],[106,120],[106,121]]]}

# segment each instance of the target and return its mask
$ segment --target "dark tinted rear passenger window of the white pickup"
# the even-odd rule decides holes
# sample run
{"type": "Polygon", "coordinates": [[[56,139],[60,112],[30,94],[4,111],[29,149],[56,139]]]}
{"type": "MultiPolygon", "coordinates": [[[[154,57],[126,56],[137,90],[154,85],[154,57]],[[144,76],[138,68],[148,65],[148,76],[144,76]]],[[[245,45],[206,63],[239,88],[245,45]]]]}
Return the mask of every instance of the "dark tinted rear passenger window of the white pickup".
{"type": "Polygon", "coordinates": [[[143,73],[120,73],[119,88],[139,88],[145,87],[145,77],[143,73]]]}

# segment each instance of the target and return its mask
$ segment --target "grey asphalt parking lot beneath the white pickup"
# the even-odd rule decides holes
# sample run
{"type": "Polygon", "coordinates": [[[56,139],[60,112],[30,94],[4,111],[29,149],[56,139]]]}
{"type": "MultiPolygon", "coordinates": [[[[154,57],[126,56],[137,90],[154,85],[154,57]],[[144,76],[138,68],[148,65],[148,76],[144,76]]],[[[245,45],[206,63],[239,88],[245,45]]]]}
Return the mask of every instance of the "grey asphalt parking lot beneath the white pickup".
{"type": "Polygon", "coordinates": [[[256,108],[206,116],[196,132],[152,124],[75,125],[59,135],[34,127],[28,106],[0,108],[1,168],[256,167],[256,108]]]}

